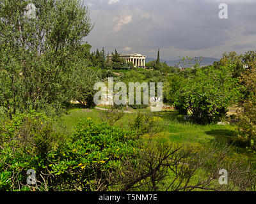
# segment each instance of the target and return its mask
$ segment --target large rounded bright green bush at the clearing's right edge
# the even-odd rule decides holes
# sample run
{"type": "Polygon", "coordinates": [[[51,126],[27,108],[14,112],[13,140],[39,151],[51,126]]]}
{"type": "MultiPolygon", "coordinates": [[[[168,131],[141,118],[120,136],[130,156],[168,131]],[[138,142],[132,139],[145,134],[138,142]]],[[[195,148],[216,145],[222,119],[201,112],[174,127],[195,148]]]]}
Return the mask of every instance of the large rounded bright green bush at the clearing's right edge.
{"type": "Polygon", "coordinates": [[[199,124],[218,121],[227,112],[227,107],[235,103],[239,96],[236,78],[232,78],[232,66],[215,69],[191,69],[188,76],[171,77],[171,87],[166,98],[178,109],[188,110],[193,120],[199,124]],[[172,82],[180,81],[178,84],[172,82]]]}

